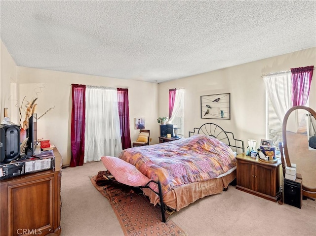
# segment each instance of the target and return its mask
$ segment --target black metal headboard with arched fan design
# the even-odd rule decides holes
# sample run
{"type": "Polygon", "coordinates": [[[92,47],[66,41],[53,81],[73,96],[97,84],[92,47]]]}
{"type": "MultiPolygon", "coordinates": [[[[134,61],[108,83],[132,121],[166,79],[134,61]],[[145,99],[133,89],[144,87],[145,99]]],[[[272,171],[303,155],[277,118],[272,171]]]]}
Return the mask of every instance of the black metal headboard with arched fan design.
{"type": "Polygon", "coordinates": [[[205,123],[200,128],[194,128],[193,132],[189,131],[189,137],[198,134],[215,137],[230,146],[233,151],[236,150],[237,153],[245,152],[242,140],[236,139],[232,132],[224,131],[221,127],[214,123],[205,123]]]}

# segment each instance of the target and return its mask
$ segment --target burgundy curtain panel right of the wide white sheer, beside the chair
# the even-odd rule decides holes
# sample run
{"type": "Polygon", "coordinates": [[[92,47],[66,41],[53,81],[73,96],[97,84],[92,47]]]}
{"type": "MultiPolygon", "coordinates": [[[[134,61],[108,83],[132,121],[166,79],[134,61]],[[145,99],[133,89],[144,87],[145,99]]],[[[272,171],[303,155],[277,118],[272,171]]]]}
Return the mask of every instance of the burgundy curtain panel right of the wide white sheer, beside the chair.
{"type": "Polygon", "coordinates": [[[122,148],[130,148],[128,89],[118,88],[118,115],[122,148]]]}

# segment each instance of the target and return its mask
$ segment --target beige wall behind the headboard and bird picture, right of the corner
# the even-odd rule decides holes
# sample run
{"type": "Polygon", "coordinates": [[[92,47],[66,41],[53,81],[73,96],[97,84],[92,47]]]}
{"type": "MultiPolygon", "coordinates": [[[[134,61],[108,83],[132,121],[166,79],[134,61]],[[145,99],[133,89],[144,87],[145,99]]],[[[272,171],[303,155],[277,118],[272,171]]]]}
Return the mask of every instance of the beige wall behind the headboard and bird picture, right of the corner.
{"type": "MultiPolygon", "coordinates": [[[[159,84],[159,116],[168,114],[169,89],[183,87],[184,135],[204,123],[215,123],[235,137],[245,141],[266,138],[266,100],[263,74],[289,70],[294,67],[316,66],[316,48],[301,50],[235,67],[159,84]],[[231,119],[201,119],[200,96],[231,93],[231,119]]],[[[316,108],[316,72],[310,90],[310,106],[316,108]]]]}

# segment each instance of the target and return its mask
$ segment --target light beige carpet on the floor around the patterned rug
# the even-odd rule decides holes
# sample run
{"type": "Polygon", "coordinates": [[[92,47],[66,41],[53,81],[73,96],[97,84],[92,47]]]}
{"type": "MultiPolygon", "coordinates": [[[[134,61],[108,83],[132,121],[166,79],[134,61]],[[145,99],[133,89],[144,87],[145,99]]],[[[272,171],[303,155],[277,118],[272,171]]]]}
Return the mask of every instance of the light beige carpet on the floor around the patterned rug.
{"type": "MultiPolygon", "coordinates": [[[[88,176],[105,170],[102,162],[63,169],[61,236],[124,236],[109,201],[88,176]]],[[[302,209],[280,205],[229,186],[173,213],[189,236],[316,236],[316,202],[302,209]]]]}

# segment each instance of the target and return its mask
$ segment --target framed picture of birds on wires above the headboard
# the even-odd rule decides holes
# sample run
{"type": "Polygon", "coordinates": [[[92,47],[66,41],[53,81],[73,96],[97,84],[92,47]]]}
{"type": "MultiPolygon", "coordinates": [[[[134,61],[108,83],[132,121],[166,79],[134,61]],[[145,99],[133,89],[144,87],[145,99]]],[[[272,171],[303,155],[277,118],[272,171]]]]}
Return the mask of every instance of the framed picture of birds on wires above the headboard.
{"type": "Polygon", "coordinates": [[[231,94],[201,96],[202,119],[231,119],[231,94]]]}

